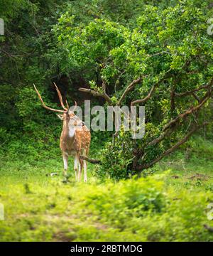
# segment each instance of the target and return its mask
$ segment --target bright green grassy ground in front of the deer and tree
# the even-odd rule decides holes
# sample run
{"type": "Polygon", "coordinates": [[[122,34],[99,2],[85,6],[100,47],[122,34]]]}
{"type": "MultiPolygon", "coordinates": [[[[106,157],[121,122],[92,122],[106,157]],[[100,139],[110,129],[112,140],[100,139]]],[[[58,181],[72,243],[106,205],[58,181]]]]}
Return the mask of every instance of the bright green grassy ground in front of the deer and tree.
{"type": "MultiPolygon", "coordinates": [[[[70,164],[71,169],[72,164],[70,164]]],[[[213,146],[192,140],[144,177],[62,182],[60,158],[0,164],[1,241],[210,241],[213,146]],[[57,176],[50,176],[57,172],[57,176]]]]}

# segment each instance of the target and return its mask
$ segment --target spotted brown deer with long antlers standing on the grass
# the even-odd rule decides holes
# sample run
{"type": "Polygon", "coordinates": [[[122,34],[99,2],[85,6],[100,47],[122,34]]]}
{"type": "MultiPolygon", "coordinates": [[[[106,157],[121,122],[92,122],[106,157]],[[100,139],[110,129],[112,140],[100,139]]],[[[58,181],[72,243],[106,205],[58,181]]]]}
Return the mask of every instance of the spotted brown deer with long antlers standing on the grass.
{"type": "Polygon", "coordinates": [[[35,85],[34,88],[45,109],[61,113],[57,115],[63,122],[62,132],[60,135],[60,149],[62,151],[64,163],[64,176],[67,177],[68,156],[74,156],[75,179],[76,181],[80,181],[82,169],[84,169],[84,182],[87,182],[87,161],[84,159],[82,160],[80,156],[88,156],[91,135],[84,122],[82,122],[82,120],[74,114],[77,103],[75,102],[75,107],[73,109],[72,107],[69,107],[66,100],[67,107],[65,107],[60,90],[58,89],[57,85],[55,85],[58,92],[60,105],[63,108],[63,110],[55,110],[45,105],[35,85]]]}

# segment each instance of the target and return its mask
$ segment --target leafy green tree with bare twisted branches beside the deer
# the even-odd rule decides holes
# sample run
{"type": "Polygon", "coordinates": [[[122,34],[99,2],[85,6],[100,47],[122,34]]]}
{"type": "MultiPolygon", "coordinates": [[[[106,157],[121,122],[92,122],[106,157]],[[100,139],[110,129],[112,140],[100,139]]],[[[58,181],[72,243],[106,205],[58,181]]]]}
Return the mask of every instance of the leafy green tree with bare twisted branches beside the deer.
{"type": "Polygon", "coordinates": [[[101,173],[138,174],[211,122],[200,119],[213,89],[209,15],[207,2],[180,1],[161,9],[147,5],[135,28],[102,18],[76,26],[75,16],[60,17],[54,31],[64,53],[61,68],[78,70],[92,85],[80,90],[107,105],[146,105],[145,137],[114,134],[116,143],[102,152],[101,173]]]}

